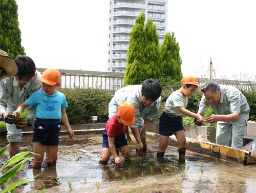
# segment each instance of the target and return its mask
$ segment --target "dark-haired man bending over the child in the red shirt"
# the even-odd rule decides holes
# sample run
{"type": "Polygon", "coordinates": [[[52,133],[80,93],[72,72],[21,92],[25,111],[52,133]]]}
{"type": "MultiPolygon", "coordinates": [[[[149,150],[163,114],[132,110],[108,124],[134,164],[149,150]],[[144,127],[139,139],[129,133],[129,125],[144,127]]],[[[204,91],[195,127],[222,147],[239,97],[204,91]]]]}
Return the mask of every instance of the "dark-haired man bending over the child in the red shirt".
{"type": "Polygon", "coordinates": [[[146,127],[147,123],[157,115],[161,101],[162,87],[154,79],[144,80],[142,85],[129,85],[115,92],[109,103],[109,118],[117,113],[121,102],[130,102],[135,108],[135,123],[130,126],[138,143],[136,153],[146,153],[146,127]]]}

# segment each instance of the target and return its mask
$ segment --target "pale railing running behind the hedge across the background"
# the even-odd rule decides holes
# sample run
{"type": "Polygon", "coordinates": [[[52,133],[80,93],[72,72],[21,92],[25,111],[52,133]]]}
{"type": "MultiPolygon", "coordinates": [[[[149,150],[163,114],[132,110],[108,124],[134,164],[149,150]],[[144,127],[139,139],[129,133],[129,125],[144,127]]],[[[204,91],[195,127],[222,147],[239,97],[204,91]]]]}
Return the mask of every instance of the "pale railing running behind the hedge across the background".
{"type": "MultiPolygon", "coordinates": [[[[126,63],[116,63],[116,66],[126,66],[126,63]]],[[[114,66],[113,66],[114,67],[114,66]]],[[[37,68],[39,72],[44,72],[46,69],[37,68]]],[[[99,72],[99,71],[82,71],[82,70],[63,70],[61,73],[61,88],[65,89],[101,89],[106,90],[111,94],[117,89],[123,87],[124,73],[121,72],[99,72]]],[[[206,78],[198,78],[200,84],[209,81],[206,78]]],[[[251,90],[256,88],[256,82],[214,79],[212,80],[220,85],[232,85],[239,90],[251,90]]]]}

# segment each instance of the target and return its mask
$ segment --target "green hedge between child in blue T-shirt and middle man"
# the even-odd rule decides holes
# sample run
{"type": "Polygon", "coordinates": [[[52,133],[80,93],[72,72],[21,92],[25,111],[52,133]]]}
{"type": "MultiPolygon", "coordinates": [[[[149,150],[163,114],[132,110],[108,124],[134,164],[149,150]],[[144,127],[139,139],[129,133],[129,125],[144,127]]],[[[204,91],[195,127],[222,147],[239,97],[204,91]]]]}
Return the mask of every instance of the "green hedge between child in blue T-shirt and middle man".
{"type": "Polygon", "coordinates": [[[108,105],[112,96],[103,90],[61,89],[66,95],[66,109],[70,124],[92,123],[91,116],[98,116],[97,122],[108,120],[108,105]]]}

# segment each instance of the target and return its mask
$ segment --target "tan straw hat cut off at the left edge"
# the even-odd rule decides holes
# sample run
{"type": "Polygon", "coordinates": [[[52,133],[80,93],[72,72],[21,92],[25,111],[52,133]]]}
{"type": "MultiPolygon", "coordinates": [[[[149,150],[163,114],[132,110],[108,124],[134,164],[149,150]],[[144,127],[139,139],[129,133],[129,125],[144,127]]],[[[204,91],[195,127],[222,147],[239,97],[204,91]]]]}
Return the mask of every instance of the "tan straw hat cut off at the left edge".
{"type": "Polygon", "coordinates": [[[9,57],[3,50],[0,50],[0,67],[6,71],[6,76],[14,76],[18,73],[14,58],[9,57]]]}

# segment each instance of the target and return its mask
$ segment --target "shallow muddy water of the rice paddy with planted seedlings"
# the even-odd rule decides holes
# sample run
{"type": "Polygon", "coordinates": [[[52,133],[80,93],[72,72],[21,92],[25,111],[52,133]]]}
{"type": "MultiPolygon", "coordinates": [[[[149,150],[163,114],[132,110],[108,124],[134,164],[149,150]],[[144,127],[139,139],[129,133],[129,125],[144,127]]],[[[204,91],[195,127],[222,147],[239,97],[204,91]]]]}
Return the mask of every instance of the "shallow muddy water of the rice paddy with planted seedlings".
{"type": "MultiPolygon", "coordinates": [[[[32,150],[31,136],[24,136],[22,150],[32,150]]],[[[15,180],[33,179],[16,192],[256,192],[256,165],[217,160],[187,152],[186,163],[178,163],[177,147],[169,146],[163,160],[156,159],[158,144],[148,143],[148,153],[135,155],[132,142],[131,165],[100,165],[101,135],[60,137],[56,168],[43,164],[32,169],[27,162],[15,180]],[[42,188],[46,187],[46,189],[42,188]]],[[[1,139],[0,146],[7,144],[1,139]]]]}

